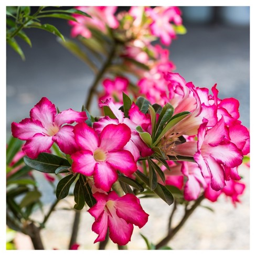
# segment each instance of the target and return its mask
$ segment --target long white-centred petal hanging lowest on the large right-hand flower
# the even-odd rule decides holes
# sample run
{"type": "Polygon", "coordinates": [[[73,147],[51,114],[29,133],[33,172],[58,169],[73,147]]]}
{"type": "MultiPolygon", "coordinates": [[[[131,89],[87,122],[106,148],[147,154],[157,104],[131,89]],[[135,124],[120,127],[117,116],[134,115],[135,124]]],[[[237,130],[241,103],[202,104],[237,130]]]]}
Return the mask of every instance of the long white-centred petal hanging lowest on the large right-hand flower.
{"type": "Polygon", "coordinates": [[[211,156],[207,158],[207,163],[211,173],[211,187],[218,191],[226,185],[224,170],[211,156]]]}

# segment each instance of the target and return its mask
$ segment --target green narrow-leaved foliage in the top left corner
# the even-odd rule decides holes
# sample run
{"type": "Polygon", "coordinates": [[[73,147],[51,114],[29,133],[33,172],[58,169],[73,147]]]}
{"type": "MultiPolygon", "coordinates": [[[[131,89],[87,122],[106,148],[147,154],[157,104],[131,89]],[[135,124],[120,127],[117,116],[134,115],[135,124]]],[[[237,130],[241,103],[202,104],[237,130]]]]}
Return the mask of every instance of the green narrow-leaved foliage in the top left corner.
{"type": "Polygon", "coordinates": [[[47,6],[39,6],[35,13],[31,13],[30,6],[6,7],[6,42],[19,54],[19,56],[23,60],[25,60],[25,55],[23,53],[23,50],[18,45],[18,42],[16,41],[15,37],[18,36],[31,47],[31,41],[23,31],[25,28],[43,29],[65,41],[63,35],[55,26],[51,24],[42,24],[40,22],[40,19],[60,18],[76,21],[76,18],[73,17],[73,14],[80,14],[90,17],[90,15],[74,8],[68,10],[58,8],[59,7],[55,7],[55,9],[49,10],[47,9],[47,6]]]}

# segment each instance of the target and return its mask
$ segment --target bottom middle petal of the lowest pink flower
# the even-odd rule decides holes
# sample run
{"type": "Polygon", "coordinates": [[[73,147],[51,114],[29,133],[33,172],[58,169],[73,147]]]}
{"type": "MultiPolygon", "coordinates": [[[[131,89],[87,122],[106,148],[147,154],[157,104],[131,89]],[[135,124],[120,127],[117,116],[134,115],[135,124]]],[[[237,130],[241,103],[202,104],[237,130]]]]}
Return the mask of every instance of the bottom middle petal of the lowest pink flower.
{"type": "Polygon", "coordinates": [[[109,216],[109,237],[120,246],[125,246],[131,241],[133,225],[119,218],[115,213],[109,216]]]}

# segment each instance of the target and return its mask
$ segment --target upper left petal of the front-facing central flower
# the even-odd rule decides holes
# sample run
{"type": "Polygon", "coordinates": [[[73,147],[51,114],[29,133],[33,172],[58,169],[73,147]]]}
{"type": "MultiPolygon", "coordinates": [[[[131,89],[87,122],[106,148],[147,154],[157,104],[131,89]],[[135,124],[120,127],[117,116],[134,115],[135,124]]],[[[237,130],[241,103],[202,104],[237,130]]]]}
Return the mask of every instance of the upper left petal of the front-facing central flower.
{"type": "Polygon", "coordinates": [[[74,139],[83,150],[94,152],[99,145],[97,133],[86,123],[80,123],[74,126],[74,139]]]}

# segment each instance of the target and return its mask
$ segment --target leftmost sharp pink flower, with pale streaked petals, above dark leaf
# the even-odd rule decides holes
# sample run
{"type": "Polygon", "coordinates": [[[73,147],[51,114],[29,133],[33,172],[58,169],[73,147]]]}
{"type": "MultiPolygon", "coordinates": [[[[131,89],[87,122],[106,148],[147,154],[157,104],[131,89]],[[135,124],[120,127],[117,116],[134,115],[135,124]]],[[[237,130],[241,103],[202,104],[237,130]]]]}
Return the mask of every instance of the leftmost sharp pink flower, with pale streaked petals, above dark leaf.
{"type": "Polygon", "coordinates": [[[26,141],[23,151],[31,158],[48,151],[54,142],[63,153],[71,154],[77,150],[73,126],[63,124],[80,123],[85,120],[87,120],[86,112],[68,109],[57,114],[55,105],[43,97],[30,110],[30,118],[12,123],[12,134],[26,141]]]}

